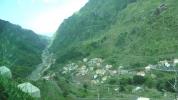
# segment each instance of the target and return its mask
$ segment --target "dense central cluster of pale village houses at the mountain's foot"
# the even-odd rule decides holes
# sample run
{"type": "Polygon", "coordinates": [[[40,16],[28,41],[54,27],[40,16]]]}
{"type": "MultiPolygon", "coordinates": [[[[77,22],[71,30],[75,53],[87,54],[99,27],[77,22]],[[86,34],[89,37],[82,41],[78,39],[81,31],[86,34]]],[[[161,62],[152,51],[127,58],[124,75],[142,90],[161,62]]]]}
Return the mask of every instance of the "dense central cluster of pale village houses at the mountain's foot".
{"type": "Polygon", "coordinates": [[[63,67],[62,73],[66,75],[72,74],[74,77],[83,77],[92,84],[101,84],[111,76],[118,74],[118,70],[115,70],[112,65],[105,64],[101,58],[84,58],[79,64],[67,64],[63,67]]]}

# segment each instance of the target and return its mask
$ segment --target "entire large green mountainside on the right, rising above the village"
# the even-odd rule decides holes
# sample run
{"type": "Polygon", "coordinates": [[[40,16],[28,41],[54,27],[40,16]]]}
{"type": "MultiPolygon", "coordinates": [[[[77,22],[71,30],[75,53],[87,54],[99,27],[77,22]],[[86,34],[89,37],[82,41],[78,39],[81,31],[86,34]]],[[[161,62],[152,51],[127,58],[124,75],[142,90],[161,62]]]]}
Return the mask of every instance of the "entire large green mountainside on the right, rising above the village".
{"type": "Polygon", "coordinates": [[[101,57],[145,66],[178,56],[177,0],[90,0],[66,19],[51,50],[57,62],[101,57]]]}

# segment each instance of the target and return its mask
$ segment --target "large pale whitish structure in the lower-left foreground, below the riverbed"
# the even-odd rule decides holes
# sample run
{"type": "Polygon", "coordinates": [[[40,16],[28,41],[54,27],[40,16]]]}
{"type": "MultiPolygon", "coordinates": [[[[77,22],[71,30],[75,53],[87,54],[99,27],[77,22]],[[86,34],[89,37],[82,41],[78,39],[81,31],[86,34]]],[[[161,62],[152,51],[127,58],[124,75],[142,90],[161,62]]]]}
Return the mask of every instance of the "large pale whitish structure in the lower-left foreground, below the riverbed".
{"type": "Polygon", "coordinates": [[[20,90],[22,90],[24,93],[27,93],[34,98],[40,98],[41,97],[40,89],[37,88],[36,86],[32,85],[29,82],[19,84],[17,87],[20,90]]]}

